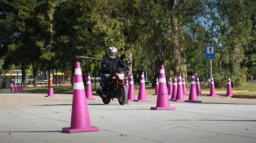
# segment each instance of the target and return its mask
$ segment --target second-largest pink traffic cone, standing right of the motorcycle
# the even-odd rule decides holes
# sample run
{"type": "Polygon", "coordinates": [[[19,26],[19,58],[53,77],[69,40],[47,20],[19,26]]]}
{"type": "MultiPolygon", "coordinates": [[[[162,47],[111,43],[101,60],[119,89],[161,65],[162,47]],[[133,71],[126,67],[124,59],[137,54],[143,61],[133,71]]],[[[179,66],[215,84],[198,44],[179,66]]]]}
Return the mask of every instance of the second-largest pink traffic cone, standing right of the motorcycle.
{"type": "Polygon", "coordinates": [[[151,110],[174,110],[175,107],[170,107],[169,96],[167,92],[166,78],[164,65],[160,66],[160,76],[159,76],[159,89],[157,95],[157,106],[151,107],[151,110]]]}

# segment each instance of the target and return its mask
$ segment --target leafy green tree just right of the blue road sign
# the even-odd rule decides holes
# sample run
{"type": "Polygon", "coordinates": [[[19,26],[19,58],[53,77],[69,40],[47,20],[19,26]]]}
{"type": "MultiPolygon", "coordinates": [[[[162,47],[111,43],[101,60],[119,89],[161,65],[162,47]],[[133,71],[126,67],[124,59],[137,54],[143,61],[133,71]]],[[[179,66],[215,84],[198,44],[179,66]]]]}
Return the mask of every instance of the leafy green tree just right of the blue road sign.
{"type": "Polygon", "coordinates": [[[213,36],[217,40],[217,63],[214,63],[215,83],[225,85],[225,78],[232,75],[235,85],[246,80],[247,68],[242,66],[245,49],[252,41],[252,14],[255,2],[215,1],[213,6],[213,36]]]}

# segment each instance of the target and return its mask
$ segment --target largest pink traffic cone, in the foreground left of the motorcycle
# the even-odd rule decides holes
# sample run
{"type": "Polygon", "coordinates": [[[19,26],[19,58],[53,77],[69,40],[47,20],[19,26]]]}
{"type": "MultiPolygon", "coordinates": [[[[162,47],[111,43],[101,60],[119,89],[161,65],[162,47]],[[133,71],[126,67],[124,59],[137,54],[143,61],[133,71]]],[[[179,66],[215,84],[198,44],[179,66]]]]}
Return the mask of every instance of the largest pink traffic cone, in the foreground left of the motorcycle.
{"type": "Polygon", "coordinates": [[[62,131],[66,133],[99,131],[98,127],[91,126],[90,123],[80,62],[76,62],[75,65],[71,124],[70,127],[62,128],[62,131]]]}

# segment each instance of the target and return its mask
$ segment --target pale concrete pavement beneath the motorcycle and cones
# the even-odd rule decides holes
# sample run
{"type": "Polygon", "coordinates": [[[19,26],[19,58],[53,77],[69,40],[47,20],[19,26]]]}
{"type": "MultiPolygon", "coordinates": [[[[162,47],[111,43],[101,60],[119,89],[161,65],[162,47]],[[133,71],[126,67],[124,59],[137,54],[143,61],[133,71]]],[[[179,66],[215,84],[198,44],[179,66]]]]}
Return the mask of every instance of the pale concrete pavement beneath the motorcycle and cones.
{"type": "MultiPolygon", "coordinates": [[[[0,142],[255,142],[256,99],[200,96],[203,103],[170,102],[156,111],[151,102],[87,101],[90,123],[99,132],[62,133],[70,127],[72,95],[0,92],[0,142]]],[[[137,97],[137,96],[136,96],[137,97]]],[[[185,96],[187,99],[188,96],[185,96]]]]}

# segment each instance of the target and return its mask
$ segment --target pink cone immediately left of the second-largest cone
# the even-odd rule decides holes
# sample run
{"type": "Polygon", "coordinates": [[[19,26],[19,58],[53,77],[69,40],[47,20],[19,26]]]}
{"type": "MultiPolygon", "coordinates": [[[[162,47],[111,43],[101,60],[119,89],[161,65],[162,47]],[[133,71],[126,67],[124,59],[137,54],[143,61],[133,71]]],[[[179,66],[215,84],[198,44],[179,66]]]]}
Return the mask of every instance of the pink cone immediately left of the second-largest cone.
{"type": "Polygon", "coordinates": [[[147,95],[146,95],[144,72],[142,72],[142,76],[140,77],[138,99],[134,100],[134,101],[138,101],[138,102],[149,102],[150,101],[147,99],[147,95]]]}

